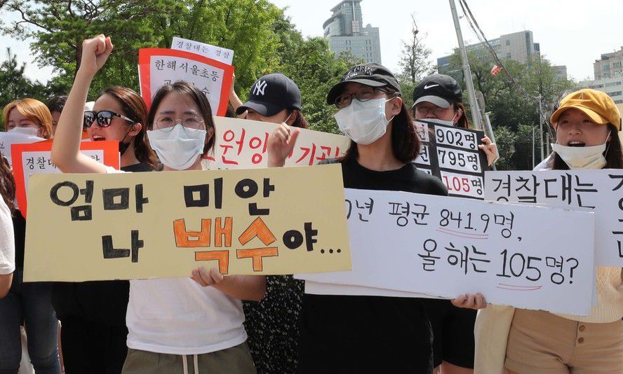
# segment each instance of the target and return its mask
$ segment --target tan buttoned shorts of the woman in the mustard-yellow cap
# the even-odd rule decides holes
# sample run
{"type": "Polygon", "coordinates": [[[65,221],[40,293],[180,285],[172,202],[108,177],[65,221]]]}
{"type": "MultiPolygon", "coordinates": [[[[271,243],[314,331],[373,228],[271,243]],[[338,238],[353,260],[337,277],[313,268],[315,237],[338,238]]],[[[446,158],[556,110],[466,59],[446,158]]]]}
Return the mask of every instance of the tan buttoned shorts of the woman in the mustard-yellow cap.
{"type": "Polygon", "coordinates": [[[589,324],[517,309],[504,366],[519,374],[621,374],[623,321],[589,324]]]}

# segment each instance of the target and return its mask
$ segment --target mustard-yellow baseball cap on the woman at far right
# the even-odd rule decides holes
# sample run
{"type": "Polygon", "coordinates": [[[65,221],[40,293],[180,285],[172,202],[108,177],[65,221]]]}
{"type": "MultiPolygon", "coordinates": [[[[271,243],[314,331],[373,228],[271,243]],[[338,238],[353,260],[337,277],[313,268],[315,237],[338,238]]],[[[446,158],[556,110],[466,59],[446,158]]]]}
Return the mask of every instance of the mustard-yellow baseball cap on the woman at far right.
{"type": "Polygon", "coordinates": [[[614,100],[605,92],[585,88],[570,93],[561,100],[558,110],[551,114],[549,122],[554,125],[558,123],[558,118],[567,109],[577,109],[589,116],[594,123],[605,125],[610,123],[621,131],[621,113],[614,100]]]}

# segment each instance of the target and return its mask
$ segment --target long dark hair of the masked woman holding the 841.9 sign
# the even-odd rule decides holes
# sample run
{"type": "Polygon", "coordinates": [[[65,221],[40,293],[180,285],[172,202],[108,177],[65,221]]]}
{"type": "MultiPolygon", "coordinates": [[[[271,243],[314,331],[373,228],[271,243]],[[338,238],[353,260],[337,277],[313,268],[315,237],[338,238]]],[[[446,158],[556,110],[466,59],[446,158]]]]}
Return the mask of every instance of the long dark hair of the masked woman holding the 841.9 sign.
{"type": "MultiPolygon", "coordinates": [[[[399,97],[400,92],[392,90],[389,86],[382,88],[389,97],[399,97]]],[[[412,162],[420,155],[420,138],[417,137],[413,117],[406,104],[403,102],[400,113],[391,120],[391,151],[394,157],[401,162],[412,162]]],[[[351,144],[342,160],[356,160],[359,158],[357,144],[351,140],[351,144]]]]}

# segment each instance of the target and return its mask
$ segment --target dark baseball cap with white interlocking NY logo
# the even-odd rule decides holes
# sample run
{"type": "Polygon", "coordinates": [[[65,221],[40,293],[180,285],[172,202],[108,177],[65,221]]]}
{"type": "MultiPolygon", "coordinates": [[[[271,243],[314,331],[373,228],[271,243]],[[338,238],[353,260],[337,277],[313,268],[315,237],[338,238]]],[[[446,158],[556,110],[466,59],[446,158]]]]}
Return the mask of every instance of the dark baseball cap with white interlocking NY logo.
{"type": "Polygon", "coordinates": [[[251,86],[248,102],[236,109],[240,115],[253,109],[264,117],[274,116],[283,109],[301,110],[301,91],[292,79],[281,73],[262,76],[251,86]]]}

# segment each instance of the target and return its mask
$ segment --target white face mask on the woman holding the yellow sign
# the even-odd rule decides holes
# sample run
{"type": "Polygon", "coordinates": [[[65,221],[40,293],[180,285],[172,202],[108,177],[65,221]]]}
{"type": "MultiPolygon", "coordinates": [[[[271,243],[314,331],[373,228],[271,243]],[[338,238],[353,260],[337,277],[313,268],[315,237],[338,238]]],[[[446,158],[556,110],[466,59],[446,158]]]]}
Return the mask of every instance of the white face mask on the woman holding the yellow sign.
{"type": "Polygon", "coordinates": [[[147,138],[161,162],[175,170],[191,167],[203,153],[206,130],[184,130],[179,123],[173,130],[147,130],[147,138]]]}

